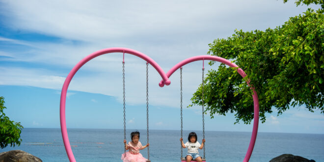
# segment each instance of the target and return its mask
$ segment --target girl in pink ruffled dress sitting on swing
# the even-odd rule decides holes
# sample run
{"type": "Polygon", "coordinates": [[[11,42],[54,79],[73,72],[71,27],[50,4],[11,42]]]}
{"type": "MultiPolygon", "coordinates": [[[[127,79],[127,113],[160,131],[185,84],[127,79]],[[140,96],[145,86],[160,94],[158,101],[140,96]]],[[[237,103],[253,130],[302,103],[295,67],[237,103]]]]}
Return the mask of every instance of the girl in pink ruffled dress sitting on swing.
{"type": "Polygon", "coordinates": [[[145,159],[142,154],[139,153],[139,150],[143,150],[150,144],[147,143],[145,146],[142,146],[142,143],[140,143],[139,140],[139,132],[132,132],[131,133],[132,141],[128,142],[126,145],[126,139],[124,139],[125,143],[125,149],[129,151],[122,154],[121,160],[123,162],[146,162],[147,159],[145,159]]]}

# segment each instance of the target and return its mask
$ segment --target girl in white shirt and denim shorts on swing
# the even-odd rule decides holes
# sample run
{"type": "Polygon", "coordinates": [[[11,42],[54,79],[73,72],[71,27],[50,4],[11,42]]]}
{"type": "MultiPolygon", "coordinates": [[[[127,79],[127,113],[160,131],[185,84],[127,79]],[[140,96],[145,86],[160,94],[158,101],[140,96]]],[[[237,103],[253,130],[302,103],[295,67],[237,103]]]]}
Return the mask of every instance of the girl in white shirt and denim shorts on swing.
{"type": "Polygon", "coordinates": [[[192,159],[196,160],[197,162],[202,162],[202,159],[199,156],[198,148],[202,149],[204,147],[205,139],[202,140],[200,145],[200,143],[197,142],[197,134],[191,132],[189,133],[188,142],[186,142],[186,144],[184,144],[182,138],[180,138],[180,141],[183,148],[188,148],[188,154],[186,156],[187,162],[190,162],[192,159]]]}

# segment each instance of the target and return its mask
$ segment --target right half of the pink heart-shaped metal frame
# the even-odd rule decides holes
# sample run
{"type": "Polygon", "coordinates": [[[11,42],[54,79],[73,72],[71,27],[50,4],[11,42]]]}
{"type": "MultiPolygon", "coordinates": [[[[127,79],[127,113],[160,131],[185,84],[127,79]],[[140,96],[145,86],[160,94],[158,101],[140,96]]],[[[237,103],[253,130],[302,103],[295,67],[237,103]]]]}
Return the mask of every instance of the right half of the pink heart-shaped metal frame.
{"type": "MultiPolygon", "coordinates": [[[[217,61],[217,62],[221,62],[224,63],[230,67],[238,67],[238,65],[236,65],[235,63],[232,63],[231,61],[222,58],[222,57],[217,57],[217,56],[213,56],[213,55],[198,55],[198,56],[193,56],[190,58],[187,58],[179,63],[177,63],[176,65],[174,65],[167,73],[166,76],[168,78],[170,78],[170,76],[179,68],[183,67],[184,65],[190,63],[190,62],[194,62],[194,61],[198,61],[198,60],[213,60],[213,61],[217,61]]],[[[204,63],[203,63],[203,68],[204,68],[204,63]]],[[[237,70],[237,72],[244,78],[246,76],[246,74],[244,73],[244,71],[239,68],[237,70]]],[[[249,85],[249,83],[247,82],[247,84],[249,85]]],[[[162,87],[164,86],[164,81],[161,81],[159,83],[159,85],[162,87]]],[[[249,85],[250,86],[250,85],[249,85]]],[[[251,87],[253,89],[253,104],[254,104],[254,119],[253,119],[253,130],[252,130],[252,135],[251,135],[251,140],[250,140],[250,144],[248,146],[247,152],[245,154],[244,160],[243,162],[248,162],[252,152],[253,152],[253,148],[254,148],[254,144],[255,144],[255,140],[258,134],[258,126],[259,126],[259,99],[258,99],[258,95],[257,92],[254,90],[253,87],[251,87]]]]}

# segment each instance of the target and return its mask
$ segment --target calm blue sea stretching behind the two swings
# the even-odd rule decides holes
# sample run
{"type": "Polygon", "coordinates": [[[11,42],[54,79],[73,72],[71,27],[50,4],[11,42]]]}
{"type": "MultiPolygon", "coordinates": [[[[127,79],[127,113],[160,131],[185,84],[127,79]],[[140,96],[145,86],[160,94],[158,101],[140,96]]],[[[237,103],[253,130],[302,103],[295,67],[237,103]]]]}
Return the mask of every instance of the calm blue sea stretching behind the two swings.
{"type": "MultiPolygon", "coordinates": [[[[127,130],[126,137],[130,140],[127,130]]],[[[140,141],[146,143],[146,130],[140,141]]],[[[191,131],[190,131],[191,132],[191,131]]],[[[195,131],[201,142],[202,132],[195,131]]],[[[189,131],[184,131],[184,141],[189,131]]],[[[68,129],[73,154],[77,162],[120,162],[124,153],[124,131],[110,129],[68,129]]],[[[150,130],[150,160],[152,162],[179,162],[181,157],[180,131],[150,130]]],[[[23,150],[43,162],[68,162],[60,129],[25,128],[20,146],[6,147],[0,152],[23,150]]],[[[250,132],[206,131],[206,160],[208,162],[242,162],[251,138],[250,132]]],[[[187,150],[183,150],[183,154],[187,150]]],[[[147,158],[147,149],[140,153],[147,158]]],[[[203,150],[199,150],[200,155],[203,150]]],[[[258,133],[250,162],[269,162],[281,154],[293,154],[316,162],[324,162],[324,135],[258,133]]]]}

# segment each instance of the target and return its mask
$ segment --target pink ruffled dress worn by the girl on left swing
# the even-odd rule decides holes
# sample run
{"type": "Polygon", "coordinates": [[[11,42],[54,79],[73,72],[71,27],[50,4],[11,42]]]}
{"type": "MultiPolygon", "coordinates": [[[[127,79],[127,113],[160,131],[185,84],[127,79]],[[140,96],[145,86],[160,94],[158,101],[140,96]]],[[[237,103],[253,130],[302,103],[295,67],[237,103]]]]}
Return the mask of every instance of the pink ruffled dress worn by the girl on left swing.
{"type": "Polygon", "coordinates": [[[128,142],[129,151],[122,154],[121,160],[123,162],[146,162],[142,154],[139,153],[139,149],[142,147],[142,143],[140,141],[135,144],[133,141],[128,142]]]}

